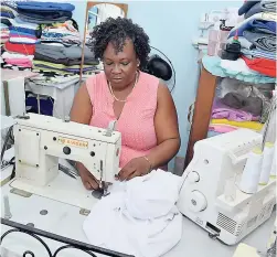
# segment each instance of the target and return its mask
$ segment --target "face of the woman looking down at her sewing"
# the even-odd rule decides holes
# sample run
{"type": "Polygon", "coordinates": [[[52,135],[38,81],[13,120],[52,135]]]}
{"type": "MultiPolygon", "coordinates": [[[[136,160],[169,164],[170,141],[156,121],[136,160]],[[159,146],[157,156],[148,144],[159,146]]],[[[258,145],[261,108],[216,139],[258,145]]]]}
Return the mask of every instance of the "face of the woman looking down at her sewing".
{"type": "Polygon", "coordinates": [[[107,79],[119,90],[132,83],[139,66],[131,40],[126,40],[122,52],[117,54],[114,45],[109,43],[104,52],[103,62],[107,79]]]}

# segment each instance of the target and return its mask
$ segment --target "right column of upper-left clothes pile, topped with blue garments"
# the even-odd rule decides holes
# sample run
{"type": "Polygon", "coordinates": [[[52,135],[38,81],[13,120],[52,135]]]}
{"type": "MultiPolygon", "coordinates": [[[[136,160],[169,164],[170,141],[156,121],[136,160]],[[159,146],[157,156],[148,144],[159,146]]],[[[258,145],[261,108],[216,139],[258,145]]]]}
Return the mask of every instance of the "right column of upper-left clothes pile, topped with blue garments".
{"type": "MultiPolygon", "coordinates": [[[[40,24],[41,29],[40,44],[34,50],[33,71],[45,76],[81,73],[81,34],[72,19],[74,9],[71,3],[18,2],[20,18],[40,24]]],[[[86,49],[83,72],[94,72],[97,64],[93,52],[86,49]]]]}

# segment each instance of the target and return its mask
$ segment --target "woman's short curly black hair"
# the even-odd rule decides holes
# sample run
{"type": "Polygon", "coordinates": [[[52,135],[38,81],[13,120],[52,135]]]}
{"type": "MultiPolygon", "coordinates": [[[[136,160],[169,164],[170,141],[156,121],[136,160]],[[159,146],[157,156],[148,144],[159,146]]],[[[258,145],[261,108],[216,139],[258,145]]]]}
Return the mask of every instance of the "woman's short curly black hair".
{"type": "Polygon", "coordinates": [[[105,22],[96,25],[90,33],[92,46],[96,58],[103,58],[104,51],[109,42],[114,44],[116,52],[122,51],[126,39],[130,39],[137,57],[140,61],[140,67],[145,67],[150,53],[149,36],[138,24],[132,23],[130,19],[108,18],[105,22]]]}

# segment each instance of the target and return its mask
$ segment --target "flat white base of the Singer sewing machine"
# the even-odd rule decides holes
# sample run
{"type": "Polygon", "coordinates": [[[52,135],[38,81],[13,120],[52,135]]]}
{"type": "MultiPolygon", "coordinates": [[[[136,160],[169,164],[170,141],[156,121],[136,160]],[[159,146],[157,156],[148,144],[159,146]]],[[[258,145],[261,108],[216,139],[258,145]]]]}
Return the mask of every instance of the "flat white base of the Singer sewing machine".
{"type": "Polygon", "coordinates": [[[22,190],[31,194],[86,210],[90,210],[98,201],[98,199],[92,195],[92,191],[87,191],[84,188],[79,176],[73,179],[63,172],[58,172],[57,176],[46,186],[31,185],[17,179],[10,182],[10,186],[11,189],[22,190]]]}

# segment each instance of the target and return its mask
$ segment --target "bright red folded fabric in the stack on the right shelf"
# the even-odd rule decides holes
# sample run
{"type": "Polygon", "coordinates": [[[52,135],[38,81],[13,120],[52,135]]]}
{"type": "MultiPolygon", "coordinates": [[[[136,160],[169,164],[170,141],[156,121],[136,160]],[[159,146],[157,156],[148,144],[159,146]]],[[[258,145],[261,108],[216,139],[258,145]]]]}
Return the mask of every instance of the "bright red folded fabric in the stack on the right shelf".
{"type": "Polygon", "coordinates": [[[268,58],[247,58],[242,56],[247,66],[260,74],[276,77],[276,61],[268,58]]]}

